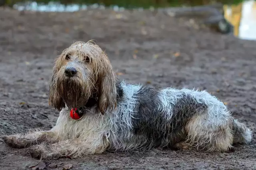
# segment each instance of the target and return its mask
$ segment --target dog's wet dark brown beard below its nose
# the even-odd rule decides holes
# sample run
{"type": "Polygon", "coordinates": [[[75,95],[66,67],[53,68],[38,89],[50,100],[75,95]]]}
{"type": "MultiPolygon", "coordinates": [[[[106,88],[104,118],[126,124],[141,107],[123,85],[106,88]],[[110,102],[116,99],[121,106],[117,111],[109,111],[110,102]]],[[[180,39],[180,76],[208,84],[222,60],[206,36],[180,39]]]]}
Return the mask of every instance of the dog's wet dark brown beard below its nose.
{"type": "Polygon", "coordinates": [[[92,96],[92,84],[78,76],[58,78],[56,85],[58,95],[70,109],[85,106],[92,96]]]}

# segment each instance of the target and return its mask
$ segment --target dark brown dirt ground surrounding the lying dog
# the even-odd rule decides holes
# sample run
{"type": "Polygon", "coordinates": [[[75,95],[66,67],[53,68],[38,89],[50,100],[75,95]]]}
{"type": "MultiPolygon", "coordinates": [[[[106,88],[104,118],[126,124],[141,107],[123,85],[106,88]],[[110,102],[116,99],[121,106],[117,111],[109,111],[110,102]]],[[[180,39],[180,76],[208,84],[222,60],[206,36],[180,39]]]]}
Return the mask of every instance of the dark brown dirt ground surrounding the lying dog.
{"type": "MultiPolygon", "coordinates": [[[[193,25],[149,11],[20,14],[1,8],[0,135],[54,125],[58,111],[50,109],[47,96],[53,61],[74,41],[94,39],[121,80],[208,90],[254,131],[253,141],[226,153],[106,152],[41,162],[44,169],[256,169],[256,41],[193,25]]],[[[40,161],[27,151],[7,147],[0,138],[0,169],[32,169],[40,161]]]]}

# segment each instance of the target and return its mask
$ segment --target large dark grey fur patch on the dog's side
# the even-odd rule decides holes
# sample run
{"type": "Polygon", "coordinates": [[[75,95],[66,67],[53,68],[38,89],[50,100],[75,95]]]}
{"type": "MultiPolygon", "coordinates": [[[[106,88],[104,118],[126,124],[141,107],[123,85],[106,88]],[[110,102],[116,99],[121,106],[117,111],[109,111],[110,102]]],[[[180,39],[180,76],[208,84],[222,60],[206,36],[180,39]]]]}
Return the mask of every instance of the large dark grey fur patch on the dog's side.
{"type": "Polygon", "coordinates": [[[178,100],[168,101],[172,113],[166,113],[161,90],[159,87],[142,86],[135,94],[137,103],[132,118],[133,133],[145,137],[147,146],[141,146],[143,148],[170,147],[185,140],[184,127],[188,120],[208,108],[204,102],[199,103],[192,95],[182,92],[178,100]],[[171,115],[171,119],[168,120],[166,115],[171,115]]]}

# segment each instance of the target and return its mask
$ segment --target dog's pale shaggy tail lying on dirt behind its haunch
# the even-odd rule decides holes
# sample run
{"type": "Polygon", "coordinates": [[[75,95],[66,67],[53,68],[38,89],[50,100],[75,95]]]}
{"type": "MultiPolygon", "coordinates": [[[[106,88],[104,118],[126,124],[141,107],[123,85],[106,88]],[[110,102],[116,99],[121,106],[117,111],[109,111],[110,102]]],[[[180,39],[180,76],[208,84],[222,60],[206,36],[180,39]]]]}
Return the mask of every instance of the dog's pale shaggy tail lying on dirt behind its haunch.
{"type": "Polygon", "coordinates": [[[233,121],[234,139],[233,143],[248,144],[252,141],[252,131],[243,123],[238,122],[237,119],[233,121]]]}

